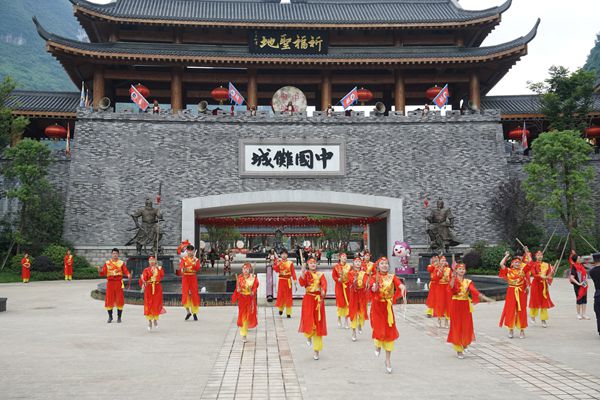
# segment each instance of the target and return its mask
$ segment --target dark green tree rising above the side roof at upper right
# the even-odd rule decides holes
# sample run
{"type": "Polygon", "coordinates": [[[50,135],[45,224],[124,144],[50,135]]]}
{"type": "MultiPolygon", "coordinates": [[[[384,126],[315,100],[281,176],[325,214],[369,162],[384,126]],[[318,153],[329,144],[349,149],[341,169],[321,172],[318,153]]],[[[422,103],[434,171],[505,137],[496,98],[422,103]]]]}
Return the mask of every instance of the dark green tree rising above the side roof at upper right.
{"type": "Polygon", "coordinates": [[[544,82],[529,83],[541,96],[541,111],[550,129],[583,132],[588,126],[596,74],[578,69],[570,73],[565,67],[552,66],[544,82]]]}

